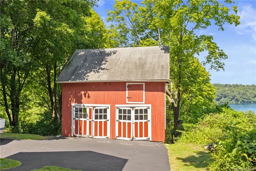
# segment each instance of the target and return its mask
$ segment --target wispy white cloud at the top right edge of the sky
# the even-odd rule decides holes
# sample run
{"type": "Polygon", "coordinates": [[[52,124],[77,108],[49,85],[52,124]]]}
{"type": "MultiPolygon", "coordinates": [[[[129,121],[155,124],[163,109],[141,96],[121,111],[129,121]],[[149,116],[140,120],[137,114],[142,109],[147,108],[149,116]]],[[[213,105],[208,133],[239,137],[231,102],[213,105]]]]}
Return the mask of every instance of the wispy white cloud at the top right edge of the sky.
{"type": "Polygon", "coordinates": [[[251,34],[256,41],[256,9],[252,5],[244,4],[238,9],[241,24],[236,27],[238,34],[251,34]]]}

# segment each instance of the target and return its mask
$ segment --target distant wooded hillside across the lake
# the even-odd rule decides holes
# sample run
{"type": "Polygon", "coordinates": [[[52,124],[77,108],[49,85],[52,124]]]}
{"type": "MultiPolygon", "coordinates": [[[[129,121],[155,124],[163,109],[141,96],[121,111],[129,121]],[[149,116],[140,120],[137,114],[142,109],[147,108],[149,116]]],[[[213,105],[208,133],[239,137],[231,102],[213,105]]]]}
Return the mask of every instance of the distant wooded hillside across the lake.
{"type": "Polygon", "coordinates": [[[213,84],[217,88],[216,101],[229,104],[256,103],[256,85],[213,84]]]}

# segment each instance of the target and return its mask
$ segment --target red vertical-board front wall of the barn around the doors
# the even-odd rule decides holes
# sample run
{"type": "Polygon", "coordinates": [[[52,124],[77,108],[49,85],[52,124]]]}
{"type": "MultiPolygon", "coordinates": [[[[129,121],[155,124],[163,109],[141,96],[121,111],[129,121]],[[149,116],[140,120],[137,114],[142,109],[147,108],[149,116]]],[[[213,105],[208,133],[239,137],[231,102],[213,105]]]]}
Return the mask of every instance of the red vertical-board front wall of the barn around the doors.
{"type": "MultiPolygon", "coordinates": [[[[115,139],[115,105],[127,104],[126,82],[62,83],[62,136],[71,136],[72,104],[110,104],[110,138],[115,139]]],[[[165,82],[145,82],[145,104],[151,104],[152,141],[164,142],[165,82]]]]}

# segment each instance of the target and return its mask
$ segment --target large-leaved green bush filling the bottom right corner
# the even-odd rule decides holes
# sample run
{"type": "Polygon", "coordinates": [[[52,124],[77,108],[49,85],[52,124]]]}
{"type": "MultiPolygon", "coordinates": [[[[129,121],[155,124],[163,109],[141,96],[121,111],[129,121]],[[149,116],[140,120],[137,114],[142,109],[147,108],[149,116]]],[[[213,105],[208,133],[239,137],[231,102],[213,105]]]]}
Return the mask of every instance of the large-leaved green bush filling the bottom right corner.
{"type": "Polygon", "coordinates": [[[256,167],[256,128],[251,131],[233,128],[219,141],[212,153],[210,171],[251,170],[256,167]]]}

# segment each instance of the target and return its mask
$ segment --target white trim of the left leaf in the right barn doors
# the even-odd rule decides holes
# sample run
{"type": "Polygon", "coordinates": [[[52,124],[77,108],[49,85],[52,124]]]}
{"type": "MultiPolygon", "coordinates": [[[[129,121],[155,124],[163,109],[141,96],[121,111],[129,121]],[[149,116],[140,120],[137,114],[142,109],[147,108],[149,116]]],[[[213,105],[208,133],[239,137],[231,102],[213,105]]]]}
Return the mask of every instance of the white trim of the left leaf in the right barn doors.
{"type": "MultiPolygon", "coordinates": [[[[132,129],[133,129],[133,126],[132,126],[132,117],[133,117],[133,110],[131,109],[131,120],[119,120],[118,119],[118,109],[131,109],[130,107],[116,107],[116,139],[120,139],[120,140],[132,140],[132,129]],[[118,136],[118,122],[121,122],[121,137],[118,136]],[[131,123],[131,138],[126,138],[126,137],[123,137],[123,123],[126,123],[126,125],[128,125],[127,123],[131,123]]],[[[128,135],[128,126],[126,126],[126,136],[128,135]]]]}

